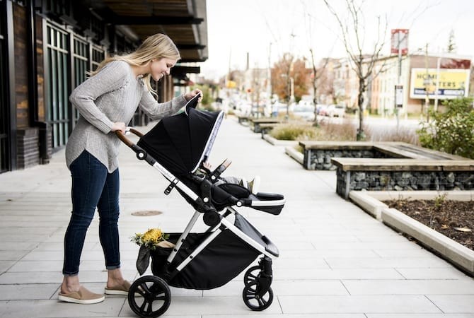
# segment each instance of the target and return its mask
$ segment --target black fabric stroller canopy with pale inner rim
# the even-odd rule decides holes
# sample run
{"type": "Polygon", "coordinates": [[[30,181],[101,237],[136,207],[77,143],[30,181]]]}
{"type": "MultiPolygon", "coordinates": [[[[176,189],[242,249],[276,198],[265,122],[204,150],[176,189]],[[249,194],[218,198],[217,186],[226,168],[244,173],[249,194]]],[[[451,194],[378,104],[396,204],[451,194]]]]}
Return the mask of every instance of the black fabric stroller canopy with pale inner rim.
{"type": "Polygon", "coordinates": [[[196,110],[197,97],[184,112],[161,119],[137,145],[176,176],[195,172],[209,156],[224,112],[196,110]]]}

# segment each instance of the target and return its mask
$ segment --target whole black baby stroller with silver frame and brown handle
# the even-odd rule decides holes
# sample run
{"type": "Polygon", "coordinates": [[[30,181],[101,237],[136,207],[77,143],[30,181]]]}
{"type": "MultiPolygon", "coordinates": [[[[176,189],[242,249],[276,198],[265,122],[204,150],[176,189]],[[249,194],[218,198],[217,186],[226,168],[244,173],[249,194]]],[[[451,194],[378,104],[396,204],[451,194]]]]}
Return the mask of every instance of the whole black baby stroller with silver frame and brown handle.
{"type": "Polygon", "coordinates": [[[250,191],[238,184],[220,182],[220,175],[230,160],[214,171],[198,174],[207,160],[224,112],[195,110],[197,97],[185,111],[161,119],[147,134],[135,129],[140,137],[132,143],[122,133],[117,136],[170,181],[165,190],[178,192],[195,209],[183,233],[170,233],[175,247],[139,252],[137,269],[144,273],[151,258],[153,276],[141,276],[128,293],[133,312],[140,317],[158,317],[168,310],[170,288],[209,290],[231,281],[261,256],[258,265],[250,267],[243,277],[243,302],[250,310],[265,310],[273,300],[272,259],[279,256],[277,247],[262,235],[236,208],[246,206],[278,215],[285,199],[281,194],[250,191]],[[202,216],[205,232],[192,232],[202,216]]]}

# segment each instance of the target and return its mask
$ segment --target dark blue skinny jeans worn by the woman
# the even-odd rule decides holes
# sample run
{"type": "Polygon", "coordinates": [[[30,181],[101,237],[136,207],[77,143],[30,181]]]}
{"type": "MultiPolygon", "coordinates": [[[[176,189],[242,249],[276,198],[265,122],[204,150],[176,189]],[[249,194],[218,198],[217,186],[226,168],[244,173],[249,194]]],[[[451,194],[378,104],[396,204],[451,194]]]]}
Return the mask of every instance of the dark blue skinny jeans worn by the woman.
{"type": "Polygon", "coordinates": [[[99,238],[107,269],[120,268],[118,233],[119,170],[108,173],[107,167],[91,153],[83,151],[69,167],[72,177],[72,213],[64,235],[65,276],[79,273],[86,232],[96,207],[99,213],[99,238]]]}

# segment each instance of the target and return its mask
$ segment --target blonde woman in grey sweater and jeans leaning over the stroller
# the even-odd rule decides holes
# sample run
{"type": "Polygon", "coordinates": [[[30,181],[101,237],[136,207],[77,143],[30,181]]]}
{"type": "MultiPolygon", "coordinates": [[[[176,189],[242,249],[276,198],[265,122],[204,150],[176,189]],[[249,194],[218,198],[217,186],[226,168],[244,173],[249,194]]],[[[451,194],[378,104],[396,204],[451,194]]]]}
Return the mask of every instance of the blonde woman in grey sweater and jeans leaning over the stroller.
{"type": "Polygon", "coordinates": [[[86,232],[98,209],[99,237],[108,280],[105,294],[127,295],[130,283],[120,271],[119,170],[120,140],[137,107],[151,119],[174,114],[200,90],[158,103],[151,93],[150,77],[159,81],[170,74],[180,59],[166,35],[148,37],[131,54],[105,59],[90,78],[78,86],[69,100],[79,110],[66,147],[66,163],[72,177],[72,213],[64,235],[64,275],[59,300],[79,304],[102,302],[104,295],[91,293],[79,283],[79,262],[86,232]]]}

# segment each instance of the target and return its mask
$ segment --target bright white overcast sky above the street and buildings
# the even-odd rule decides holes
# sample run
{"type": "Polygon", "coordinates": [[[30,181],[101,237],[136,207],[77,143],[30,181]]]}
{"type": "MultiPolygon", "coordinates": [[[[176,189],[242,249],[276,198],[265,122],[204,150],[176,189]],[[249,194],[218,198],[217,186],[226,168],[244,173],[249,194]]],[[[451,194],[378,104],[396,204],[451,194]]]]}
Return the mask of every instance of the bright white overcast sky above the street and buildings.
{"type": "MultiPolygon", "coordinates": [[[[360,0],[355,0],[358,3],[360,0]]],[[[347,21],[345,0],[328,0],[347,21]]],[[[383,55],[390,52],[392,29],[409,29],[409,53],[445,52],[449,34],[456,53],[474,57],[473,0],[365,0],[362,6],[364,51],[374,48],[377,21],[386,21],[383,55]]],[[[382,25],[385,25],[383,22],[382,25]]],[[[383,32],[382,32],[383,33],[383,32]]],[[[335,16],[323,0],[207,0],[207,61],[201,64],[205,78],[218,80],[229,69],[266,68],[284,53],[316,61],[323,57],[347,57],[335,16]]]]}

